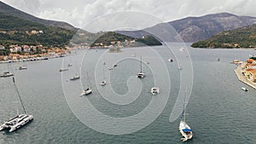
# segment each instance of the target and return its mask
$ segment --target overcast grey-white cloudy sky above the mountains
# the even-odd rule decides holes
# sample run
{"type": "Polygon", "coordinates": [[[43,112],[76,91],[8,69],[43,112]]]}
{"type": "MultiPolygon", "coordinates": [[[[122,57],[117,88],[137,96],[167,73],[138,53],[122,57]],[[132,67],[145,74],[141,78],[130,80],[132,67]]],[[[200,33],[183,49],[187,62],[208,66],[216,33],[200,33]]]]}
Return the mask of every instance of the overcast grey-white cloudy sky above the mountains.
{"type": "MultiPolygon", "coordinates": [[[[49,20],[66,21],[82,28],[84,23],[106,14],[138,11],[164,21],[187,16],[229,12],[255,16],[255,0],[2,0],[16,9],[49,20]]],[[[140,27],[154,25],[137,23],[140,27]]]]}

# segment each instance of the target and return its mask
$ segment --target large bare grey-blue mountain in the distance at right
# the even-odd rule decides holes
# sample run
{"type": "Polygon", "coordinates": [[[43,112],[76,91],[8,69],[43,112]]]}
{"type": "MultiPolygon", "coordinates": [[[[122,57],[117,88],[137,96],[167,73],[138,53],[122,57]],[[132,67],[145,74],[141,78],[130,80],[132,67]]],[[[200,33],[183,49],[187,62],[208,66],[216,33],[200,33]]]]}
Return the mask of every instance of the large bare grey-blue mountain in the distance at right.
{"type": "Polygon", "coordinates": [[[221,31],[228,31],[253,24],[256,24],[255,17],[219,13],[207,14],[201,17],[187,17],[181,20],[161,23],[140,31],[119,31],[119,33],[131,37],[142,37],[148,35],[148,32],[161,35],[171,31],[172,36],[169,39],[164,39],[164,41],[181,41],[178,38],[179,35],[184,42],[196,42],[212,37],[221,31]],[[173,30],[170,30],[170,28],[173,28],[173,30]]]}

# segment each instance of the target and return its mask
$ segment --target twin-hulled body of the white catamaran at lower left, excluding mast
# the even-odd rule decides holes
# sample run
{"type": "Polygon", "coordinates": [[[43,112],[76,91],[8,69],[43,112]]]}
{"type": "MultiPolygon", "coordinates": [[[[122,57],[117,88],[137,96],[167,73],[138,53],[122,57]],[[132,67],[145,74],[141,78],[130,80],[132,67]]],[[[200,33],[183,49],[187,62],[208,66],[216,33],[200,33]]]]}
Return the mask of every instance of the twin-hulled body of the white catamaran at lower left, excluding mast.
{"type": "Polygon", "coordinates": [[[8,121],[4,122],[2,125],[0,125],[0,130],[8,129],[9,132],[13,132],[15,130],[20,129],[25,124],[32,121],[33,116],[29,114],[20,114],[16,116],[15,118],[11,118],[8,121]]]}

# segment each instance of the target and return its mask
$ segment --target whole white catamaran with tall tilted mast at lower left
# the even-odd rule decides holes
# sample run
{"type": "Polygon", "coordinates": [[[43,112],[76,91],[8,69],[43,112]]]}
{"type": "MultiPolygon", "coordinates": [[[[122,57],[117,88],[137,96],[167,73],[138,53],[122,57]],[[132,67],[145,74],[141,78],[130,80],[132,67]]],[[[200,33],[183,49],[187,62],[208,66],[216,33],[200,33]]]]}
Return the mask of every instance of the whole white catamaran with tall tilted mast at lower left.
{"type": "MultiPolygon", "coordinates": [[[[15,78],[13,78],[13,82],[15,84],[15,78]]],[[[0,130],[9,130],[9,132],[13,132],[15,130],[20,129],[22,126],[26,125],[30,121],[33,120],[32,114],[27,114],[26,109],[24,107],[23,102],[21,101],[19,90],[17,89],[17,86],[15,84],[15,90],[19,96],[21,106],[23,108],[24,114],[18,114],[15,116],[15,118],[10,118],[9,120],[5,121],[3,124],[0,125],[0,130]]]]}

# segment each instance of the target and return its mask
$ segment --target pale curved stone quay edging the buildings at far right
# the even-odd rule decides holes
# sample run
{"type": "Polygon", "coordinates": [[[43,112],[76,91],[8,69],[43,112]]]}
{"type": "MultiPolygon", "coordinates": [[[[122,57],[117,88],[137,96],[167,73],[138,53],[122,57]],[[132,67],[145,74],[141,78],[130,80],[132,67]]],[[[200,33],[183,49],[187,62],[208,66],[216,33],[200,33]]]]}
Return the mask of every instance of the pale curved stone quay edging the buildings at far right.
{"type": "Polygon", "coordinates": [[[246,76],[242,75],[242,68],[245,67],[246,62],[241,63],[241,65],[237,66],[236,69],[234,70],[236,72],[236,76],[237,78],[244,84],[247,84],[248,86],[256,89],[256,84],[254,84],[253,82],[251,82],[250,80],[247,79],[246,76]]]}

